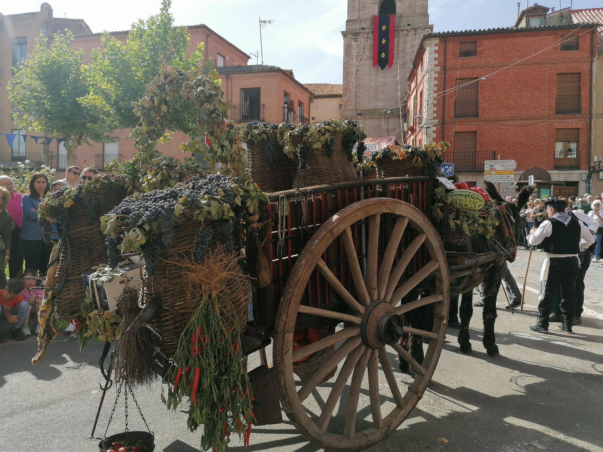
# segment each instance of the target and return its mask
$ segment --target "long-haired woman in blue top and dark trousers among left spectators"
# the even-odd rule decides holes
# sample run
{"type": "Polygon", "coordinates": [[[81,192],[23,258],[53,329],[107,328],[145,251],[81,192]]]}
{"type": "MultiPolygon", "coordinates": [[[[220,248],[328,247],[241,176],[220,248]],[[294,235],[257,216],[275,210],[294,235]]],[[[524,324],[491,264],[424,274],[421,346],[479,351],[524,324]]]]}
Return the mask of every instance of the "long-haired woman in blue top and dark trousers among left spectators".
{"type": "MultiPolygon", "coordinates": [[[[38,222],[37,208],[42,198],[50,191],[48,178],[41,172],[31,175],[30,189],[21,198],[23,207],[23,227],[21,229],[21,248],[25,257],[25,268],[31,268],[46,275],[48,261],[52,251],[52,243],[44,243],[42,226],[38,222]]],[[[52,225],[52,231],[57,232],[57,225],[52,225]]],[[[51,236],[58,239],[58,235],[51,236]]]]}

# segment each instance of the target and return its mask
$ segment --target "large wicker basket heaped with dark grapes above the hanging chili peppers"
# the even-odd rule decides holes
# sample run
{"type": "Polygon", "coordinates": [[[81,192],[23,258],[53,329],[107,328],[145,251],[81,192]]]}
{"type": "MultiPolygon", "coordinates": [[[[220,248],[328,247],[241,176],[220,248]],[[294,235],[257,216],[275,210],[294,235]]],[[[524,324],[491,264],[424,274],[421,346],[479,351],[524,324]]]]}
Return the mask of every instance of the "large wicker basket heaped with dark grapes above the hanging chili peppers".
{"type": "MultiPolygon", "coordinates": [[[[246,214],[247,195],[238,178],[210,174],[169,189],[135,193],[103,217],[109,265],[117,265],[122,253],[144,258],[141,302],[159,298],[161,307],[150,325],[159,333],[165,356],[177,351],[204,290],[191,276],[236,259],[246,214]]],[[[223,307],[244,330],[248,280],[225,281],[229,295],[223,307]]]]}

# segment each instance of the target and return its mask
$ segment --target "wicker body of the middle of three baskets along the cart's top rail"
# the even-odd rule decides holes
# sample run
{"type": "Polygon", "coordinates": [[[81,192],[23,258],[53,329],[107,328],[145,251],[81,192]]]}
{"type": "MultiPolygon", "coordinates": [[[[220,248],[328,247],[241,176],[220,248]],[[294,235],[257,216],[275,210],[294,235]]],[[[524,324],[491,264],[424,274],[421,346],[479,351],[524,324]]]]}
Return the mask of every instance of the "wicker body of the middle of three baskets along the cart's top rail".
{"type": "Polygon", "coordinates": [[[358,180],[356,168],[343,150],[343,132],[334,132],[332,137],[333,155],[328,157],[326,148],[309,149],[306,168],[297,169],[293,188],[358,180]]]}

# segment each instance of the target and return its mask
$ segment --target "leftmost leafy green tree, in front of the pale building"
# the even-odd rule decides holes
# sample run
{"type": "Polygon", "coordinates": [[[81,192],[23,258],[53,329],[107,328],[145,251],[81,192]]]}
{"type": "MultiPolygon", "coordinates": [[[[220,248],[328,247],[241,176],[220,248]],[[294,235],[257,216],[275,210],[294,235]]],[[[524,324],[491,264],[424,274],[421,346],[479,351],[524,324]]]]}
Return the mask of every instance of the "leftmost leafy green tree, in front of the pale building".
{"type": "Polygon", "coordinates": [[[70,163],[77,146],[110,142],[116,128],[103,98],[90,93],[83,52],[72,41],[69,31],[55,34],[52,45],[41,35],[8,84],[11,101],[25,111],[22,117],[13,115],[16,127],[65,137],[70,163]]]}

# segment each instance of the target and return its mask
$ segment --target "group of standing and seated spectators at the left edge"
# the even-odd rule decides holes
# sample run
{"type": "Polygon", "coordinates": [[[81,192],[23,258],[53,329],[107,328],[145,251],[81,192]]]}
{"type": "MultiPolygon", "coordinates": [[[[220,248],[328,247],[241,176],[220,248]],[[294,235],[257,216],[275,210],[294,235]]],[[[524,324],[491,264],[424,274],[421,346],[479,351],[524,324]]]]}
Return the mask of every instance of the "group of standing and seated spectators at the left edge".
{"type": "MultiPolygon", "coordinates": [[[[36,289],[42,285],[48,269],[48,261],[52,243],[42,238],[42,225],[38,221],[37,210],[42,198],[49,192],[56,192],[63,187],[75,187],[91,180],[98,171],[94,168],[69,166],[65,178],[49,183],[41,172],[31,175],[27,193],[19,193],[14,189],[12,178],[0,175],[0,310],[2,318],[11,325],[10,337],[23,341],[31,336],[28,326],[30,313],[36,314],[42,303],[43,290],[36,289]],[[7,281],[8,267],[8,281],[7,281]]],[[[56,225],[52,225],[58,239],[56,225]]],[[[40,333],[37,324],[34,334],[40,333]]],[[[0,342],[4,341],[0,333],[0,342]]]]}

